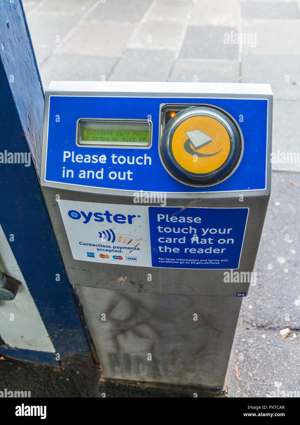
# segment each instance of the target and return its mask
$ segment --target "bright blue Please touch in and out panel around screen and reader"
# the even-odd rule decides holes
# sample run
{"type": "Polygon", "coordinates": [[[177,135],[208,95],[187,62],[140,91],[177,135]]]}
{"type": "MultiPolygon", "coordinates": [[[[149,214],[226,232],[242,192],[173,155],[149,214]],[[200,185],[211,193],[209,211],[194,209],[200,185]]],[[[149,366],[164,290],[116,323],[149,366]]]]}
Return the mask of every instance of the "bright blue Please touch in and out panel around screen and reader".
{"type": "MultiPolygon", "coordinates": [[[[148,192],[223,192],[266,188],[267,99],[50,96],[45,180],[85,187],[148,192]],[[241,127],[244,152],[236,171],[213,187],[192,187],[164,168],[158,153],[160,108],[206,104],[227,111],[241,127]],[[79,119],[149,120],[150,147],[76,144],[79,119]]],[[[131,132],[132,133],[132,132],[131,132]]],[[[88,139],[86,139],[88,140],[88,139]]]]}

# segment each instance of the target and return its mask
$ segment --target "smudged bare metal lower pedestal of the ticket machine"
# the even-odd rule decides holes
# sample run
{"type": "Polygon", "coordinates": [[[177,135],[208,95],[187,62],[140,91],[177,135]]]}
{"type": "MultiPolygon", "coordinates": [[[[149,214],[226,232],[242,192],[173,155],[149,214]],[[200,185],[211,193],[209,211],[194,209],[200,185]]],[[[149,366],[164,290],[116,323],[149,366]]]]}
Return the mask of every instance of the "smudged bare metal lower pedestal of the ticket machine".
{"type": "Polygon", "coordinates": [[[241,298],[79,293],[104,377],[223,387],[241,298]]]}

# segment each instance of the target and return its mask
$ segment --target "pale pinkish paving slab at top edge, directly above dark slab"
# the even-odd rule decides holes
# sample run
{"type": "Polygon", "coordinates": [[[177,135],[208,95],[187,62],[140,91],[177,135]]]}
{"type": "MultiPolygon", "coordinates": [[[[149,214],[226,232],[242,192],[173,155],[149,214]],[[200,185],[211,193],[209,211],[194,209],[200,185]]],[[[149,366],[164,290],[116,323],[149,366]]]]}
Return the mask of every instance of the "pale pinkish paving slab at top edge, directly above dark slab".
{"type": "Polygon", "coordinates": [[[235,0],[209,0],[192,3],[189,25],[234,27],[239,23],[240,5],[235,0]]]}

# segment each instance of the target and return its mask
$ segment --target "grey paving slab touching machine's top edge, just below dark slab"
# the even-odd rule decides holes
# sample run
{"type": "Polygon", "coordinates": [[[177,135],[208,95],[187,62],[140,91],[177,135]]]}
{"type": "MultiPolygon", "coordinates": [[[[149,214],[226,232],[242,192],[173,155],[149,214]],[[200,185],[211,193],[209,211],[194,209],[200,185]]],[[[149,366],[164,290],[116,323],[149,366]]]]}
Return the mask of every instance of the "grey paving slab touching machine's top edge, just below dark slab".
{"type": "Polygon", "coordinates": [[[239,82],[240,64],[229,61],[192,61],[179,59],[169,81],[178,82],[239,82]]]}

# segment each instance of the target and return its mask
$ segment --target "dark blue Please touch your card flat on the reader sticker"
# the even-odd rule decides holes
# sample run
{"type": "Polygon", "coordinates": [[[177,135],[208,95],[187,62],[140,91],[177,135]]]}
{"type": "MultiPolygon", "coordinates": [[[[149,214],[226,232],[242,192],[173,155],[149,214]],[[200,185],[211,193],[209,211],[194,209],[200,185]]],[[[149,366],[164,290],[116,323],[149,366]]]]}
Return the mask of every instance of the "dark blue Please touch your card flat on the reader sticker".
{"type": "Polygon", "coordinates": [[[248,211],[149,207],[152,266],[238,269],[248,211]]]}

